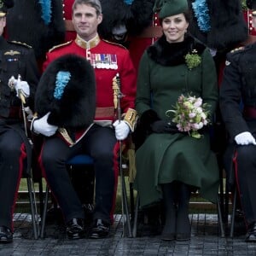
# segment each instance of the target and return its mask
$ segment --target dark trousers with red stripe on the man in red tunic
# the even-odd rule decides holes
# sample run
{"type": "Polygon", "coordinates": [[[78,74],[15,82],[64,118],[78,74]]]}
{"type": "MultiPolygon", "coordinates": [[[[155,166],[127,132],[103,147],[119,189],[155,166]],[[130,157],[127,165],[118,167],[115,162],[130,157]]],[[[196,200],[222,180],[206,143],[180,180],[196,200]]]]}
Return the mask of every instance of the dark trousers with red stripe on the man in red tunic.
{"type": "Polygon", "coordinates": [[[73,188],[66,166],[67,160],[76,154],[90,154],[94,159],[94,218],[102,218],[109,223],[112,221],[118,177],[116,145],[114,130],[99,125],[93,125],[73,147],[69,147],[60,137],[45,139],[40,163],[66,222],[72,218],[84,218],[82,203],[73,188]]]}

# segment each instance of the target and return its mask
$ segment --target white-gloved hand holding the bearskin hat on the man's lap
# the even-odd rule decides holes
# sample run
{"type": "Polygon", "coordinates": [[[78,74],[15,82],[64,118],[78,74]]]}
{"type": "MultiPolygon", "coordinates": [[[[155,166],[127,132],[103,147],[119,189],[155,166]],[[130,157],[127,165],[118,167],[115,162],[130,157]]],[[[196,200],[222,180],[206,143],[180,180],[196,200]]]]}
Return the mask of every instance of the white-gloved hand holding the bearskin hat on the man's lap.
{"type": "Polygon", "coordinates": [[[35,119],[32,124],[33,131],[41,133],[46,137],[50,137],[55,134],[58,129],[58,126],[49,125],[47,119],[49,117],[49,112],[46,113],[42,118],[35,119]]]}

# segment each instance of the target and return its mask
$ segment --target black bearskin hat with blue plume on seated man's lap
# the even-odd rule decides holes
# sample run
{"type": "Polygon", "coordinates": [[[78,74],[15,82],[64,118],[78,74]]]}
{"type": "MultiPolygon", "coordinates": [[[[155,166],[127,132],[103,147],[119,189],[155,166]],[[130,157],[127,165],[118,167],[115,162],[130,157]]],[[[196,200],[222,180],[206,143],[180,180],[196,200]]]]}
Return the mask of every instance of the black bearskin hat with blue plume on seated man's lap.
{"type": "Polygon", "coordinates": [[[88,127],[96,111],[96,80],[89,61],[78,55],[63,55],[52,61],[39,81],[35,110],[38,117],[50,112],[50,125],[88,127]]]}

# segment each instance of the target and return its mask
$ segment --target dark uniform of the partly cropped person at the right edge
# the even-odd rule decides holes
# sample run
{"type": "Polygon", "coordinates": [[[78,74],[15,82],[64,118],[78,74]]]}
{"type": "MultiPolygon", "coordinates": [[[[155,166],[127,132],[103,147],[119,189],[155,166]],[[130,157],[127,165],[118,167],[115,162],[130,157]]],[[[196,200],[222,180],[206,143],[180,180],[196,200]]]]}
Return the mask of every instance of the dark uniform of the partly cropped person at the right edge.
{"type": "Polygon", "coordinates": [[[231,176],[235,171],[241,207],[249,229],[256,222],[256,146],[236,145],[234,138],[244,131],[256,137],[255,58],[256,44],[230,52],[220,87],[220,109],[230,136],[225,159],[230,158],[233,167],[227,171],[231,176]]]}

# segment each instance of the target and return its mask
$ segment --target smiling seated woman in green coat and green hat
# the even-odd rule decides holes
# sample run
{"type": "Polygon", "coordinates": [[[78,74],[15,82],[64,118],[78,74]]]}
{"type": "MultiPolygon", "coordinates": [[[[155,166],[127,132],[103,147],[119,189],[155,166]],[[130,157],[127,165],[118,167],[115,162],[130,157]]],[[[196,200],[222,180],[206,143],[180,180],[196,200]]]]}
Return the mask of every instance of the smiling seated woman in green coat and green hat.
{"type": "MultiPolygon", "coordinates": [[[[160,3],[156,1],[157,8],[160,3]]],[[[218,164],[207,129],[201,129],[200,138],[191,137],[178,131],[166,111],[179,96],[190,95],[201,97],[213,116],[218,104],[217,75],[209,49],[186,35],[187,0],[166,1],[159,17],[163,36],[145,51],[138,72],[138,130],[147,137],[137,148],[135,185],[142,207],[163,199],[162,239],[186,241],[190,239],[190,193],[198,189],[208,201],[217,201],[218,164]],[[192,61],[186,61],[188,54],[192,61]]]]}

